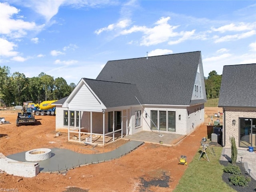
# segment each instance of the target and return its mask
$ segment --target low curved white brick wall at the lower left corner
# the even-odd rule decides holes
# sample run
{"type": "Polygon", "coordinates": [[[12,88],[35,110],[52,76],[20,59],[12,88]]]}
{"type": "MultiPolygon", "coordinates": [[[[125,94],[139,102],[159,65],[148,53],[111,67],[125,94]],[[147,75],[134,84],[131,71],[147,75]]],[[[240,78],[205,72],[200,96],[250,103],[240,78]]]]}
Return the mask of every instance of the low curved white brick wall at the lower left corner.
{"type": "Polygon", "coordinates": [[[12,160],[2,153],[0,153],[0,169],[8,174],[22,177],[34,177],[40,172],[38,163],[12,160]]]}

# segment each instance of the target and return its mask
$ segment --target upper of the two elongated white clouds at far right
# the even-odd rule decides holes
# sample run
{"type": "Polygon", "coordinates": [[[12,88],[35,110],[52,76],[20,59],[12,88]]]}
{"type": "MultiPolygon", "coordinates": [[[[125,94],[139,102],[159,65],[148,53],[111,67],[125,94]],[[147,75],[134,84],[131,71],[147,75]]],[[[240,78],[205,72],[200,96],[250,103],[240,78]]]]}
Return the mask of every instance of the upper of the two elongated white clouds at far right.
{"type": "Polygon", "coordinates": [[[227,31],[252,30],[252,29],[255,28],[255,25],[256,25],[255,23],[245,24],[245,23],[241,22],[241,23],[238,23],[238,24],[231,23],[229,25],[224,25],[224,26],[221,26],[219,28],[212,27],[211,29],[213,31],[218,31],[220,33],[224,33],[224,32],[227,32],[227,31]]]}

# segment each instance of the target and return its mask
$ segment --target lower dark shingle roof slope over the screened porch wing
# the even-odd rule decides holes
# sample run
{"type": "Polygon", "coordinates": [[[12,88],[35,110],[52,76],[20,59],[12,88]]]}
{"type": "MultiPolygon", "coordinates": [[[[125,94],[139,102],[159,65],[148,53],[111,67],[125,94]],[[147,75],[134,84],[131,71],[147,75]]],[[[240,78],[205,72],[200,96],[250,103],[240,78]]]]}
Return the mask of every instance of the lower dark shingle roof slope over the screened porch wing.
{"type": "Polygon", "coordinates": [[[83,78],[107,107],[139,105],[143,102],[136,85],[83,78]],[[136,96],[136,98],[135,98],[136,96]]]}

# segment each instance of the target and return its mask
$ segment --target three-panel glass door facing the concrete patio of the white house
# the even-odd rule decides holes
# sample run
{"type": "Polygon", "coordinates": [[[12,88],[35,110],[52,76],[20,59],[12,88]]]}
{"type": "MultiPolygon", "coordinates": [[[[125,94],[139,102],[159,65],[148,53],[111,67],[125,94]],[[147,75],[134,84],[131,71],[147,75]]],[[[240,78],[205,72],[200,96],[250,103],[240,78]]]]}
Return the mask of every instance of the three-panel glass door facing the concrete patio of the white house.
{"type": "Polygon", "coordinates": [[[176,112],[175,111],[150,111],[151,130],[176,132],[176,112]],[[158,122],[159,119],[159,122],[158,122]]]}

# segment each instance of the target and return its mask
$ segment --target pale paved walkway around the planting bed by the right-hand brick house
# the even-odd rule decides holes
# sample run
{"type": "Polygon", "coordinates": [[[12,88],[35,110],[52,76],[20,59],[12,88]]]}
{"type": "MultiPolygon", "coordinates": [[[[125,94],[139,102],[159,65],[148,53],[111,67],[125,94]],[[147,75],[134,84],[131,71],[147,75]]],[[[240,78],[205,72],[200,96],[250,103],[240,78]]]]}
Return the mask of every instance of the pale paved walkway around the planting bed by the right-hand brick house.
{"type": "MultiPolygon", "coordinates": [[[[256,180],[256,152],[249,152],[248,150],[237,150],[237,163],[244,163],[244,168],[246,172],[249,173],[250,176],[256,180]]],[[[231,161],[231,148],[223,148],[220,156],[220,160],[222,161],[231,161]]]]}

